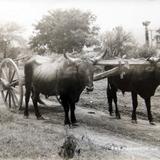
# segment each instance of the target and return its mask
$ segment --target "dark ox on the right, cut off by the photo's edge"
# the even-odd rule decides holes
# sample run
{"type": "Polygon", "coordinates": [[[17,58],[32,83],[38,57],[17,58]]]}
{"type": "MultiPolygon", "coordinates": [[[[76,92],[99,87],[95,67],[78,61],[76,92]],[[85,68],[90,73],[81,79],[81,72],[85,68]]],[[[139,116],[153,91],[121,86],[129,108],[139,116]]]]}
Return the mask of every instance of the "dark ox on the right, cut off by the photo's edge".
{"type": "MultiPolygon", "coordinates": [[[[120,75],[108,77],[107,99],[109,105],[109,113],[112,115],[112,100],[115,103],[115,114],[120,119],[120,113],[117,106],[117,90],[122,93],[131,92],[132,96],[132,122],[137,123],[136,109],[138,106],[137,95],[140,95],[147,108],[148,120],[150,124],[154,124],[151,114],[151,96],[155,94],[155,90],[160,84],[160,67],[157,62],[150,60],[150,66],[135,66],[129,69],[123,78],[120,75]]],[[[106,67],[105,70],[108,70],[106,67]]]]}

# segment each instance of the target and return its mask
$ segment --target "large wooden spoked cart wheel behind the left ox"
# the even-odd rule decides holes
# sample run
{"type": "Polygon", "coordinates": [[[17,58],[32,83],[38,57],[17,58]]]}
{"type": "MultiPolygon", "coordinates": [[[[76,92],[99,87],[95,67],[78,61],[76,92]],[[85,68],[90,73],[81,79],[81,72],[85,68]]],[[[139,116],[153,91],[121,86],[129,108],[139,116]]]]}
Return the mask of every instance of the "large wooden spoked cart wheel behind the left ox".
{"type": "Polygon", "coordinates": [[[23,101],[23,86],[20,72],[12,59],[6,58],[0,65],[1,94],[11,111],[18,111],[23,101]]]}

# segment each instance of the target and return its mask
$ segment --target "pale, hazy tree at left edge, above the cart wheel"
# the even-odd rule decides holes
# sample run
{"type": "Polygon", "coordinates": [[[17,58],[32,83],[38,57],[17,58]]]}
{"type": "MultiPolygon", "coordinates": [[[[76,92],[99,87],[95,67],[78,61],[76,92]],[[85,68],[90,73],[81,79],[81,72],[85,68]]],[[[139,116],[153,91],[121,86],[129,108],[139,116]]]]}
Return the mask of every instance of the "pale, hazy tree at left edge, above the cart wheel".
{"type": "Polygon", "coordinates": [[[0,57],[16,58],[24,47],[25,40],[21,35],[22,28],[16,23],[0,25],[0,57]]]}

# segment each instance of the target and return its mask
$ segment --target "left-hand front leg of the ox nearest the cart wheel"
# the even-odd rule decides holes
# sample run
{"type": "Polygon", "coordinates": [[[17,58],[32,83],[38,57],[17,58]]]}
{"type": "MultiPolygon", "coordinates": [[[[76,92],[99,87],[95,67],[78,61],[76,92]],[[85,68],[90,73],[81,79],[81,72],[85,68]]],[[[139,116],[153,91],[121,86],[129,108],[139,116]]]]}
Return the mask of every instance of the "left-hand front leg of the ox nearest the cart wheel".
{"type": "Polygon", "coordinates": [[[61,96],[60,97],[61,99],[61,103],[62,103],[62,106],[64,108],[64,112],[65,112],[65,119],[64,119],[64,124],[65,125],[70,125],[70,120],[69,120],[69,104],[68,104],[68,100],[65,96],[61,96]]]}

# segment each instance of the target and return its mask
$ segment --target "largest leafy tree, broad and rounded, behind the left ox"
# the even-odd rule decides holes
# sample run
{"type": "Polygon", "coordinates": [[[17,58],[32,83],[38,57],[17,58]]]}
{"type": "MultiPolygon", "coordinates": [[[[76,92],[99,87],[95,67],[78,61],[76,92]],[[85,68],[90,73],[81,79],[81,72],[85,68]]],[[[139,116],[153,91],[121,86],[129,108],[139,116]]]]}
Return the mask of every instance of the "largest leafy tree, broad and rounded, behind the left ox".
{"type": "Polygon", "coordinates": [[[52,10],[35,25],[30,46],[39,54],[81,51],[84,45],[96,44],[98,27],[95,15],[78,9],[52,10]]]}

